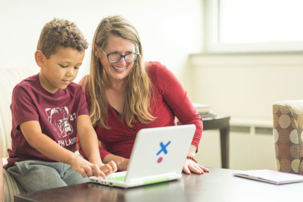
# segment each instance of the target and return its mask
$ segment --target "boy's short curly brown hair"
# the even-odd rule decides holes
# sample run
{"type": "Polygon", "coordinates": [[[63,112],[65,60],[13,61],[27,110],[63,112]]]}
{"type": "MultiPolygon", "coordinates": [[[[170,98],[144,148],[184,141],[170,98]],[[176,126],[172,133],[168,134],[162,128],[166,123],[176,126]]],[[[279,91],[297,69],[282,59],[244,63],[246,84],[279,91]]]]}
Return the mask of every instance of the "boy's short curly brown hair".
{"type": "Polygon", "coordinates": [[[40,50],[46,59],[56,54],[58,48],[71,47],[83,52],[88,43],[77,25],[63,19],[56,19],[46,23],[41,31],[37,50],[40,50]]]}

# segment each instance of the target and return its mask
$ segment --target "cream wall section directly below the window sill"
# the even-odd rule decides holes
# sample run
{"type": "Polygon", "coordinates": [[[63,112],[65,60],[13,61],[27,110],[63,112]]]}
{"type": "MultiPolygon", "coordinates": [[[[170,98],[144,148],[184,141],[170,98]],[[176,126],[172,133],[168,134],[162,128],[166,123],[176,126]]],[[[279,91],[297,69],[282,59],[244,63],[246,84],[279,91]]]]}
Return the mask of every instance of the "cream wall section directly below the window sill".
{"type": "Polygon", "coordinates": [[[303,99],[301,54],[191,55],[192,100],[234,118],[272,120],[272,104],[303,99]]]}

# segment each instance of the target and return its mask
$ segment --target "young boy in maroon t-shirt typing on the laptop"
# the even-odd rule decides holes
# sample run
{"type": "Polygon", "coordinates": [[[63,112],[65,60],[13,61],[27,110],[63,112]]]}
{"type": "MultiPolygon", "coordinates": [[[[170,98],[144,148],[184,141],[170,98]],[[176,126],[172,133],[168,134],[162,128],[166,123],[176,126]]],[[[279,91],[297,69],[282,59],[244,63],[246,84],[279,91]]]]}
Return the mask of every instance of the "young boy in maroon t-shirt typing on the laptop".
{"type": "Polygon", "coordinates": [[[13,90],[12,149],[8,169],[28,192],[89,181],[116,172],[104,165],[82,87],[72,81],[88,43],[74,23],[54,19],[41,31],[35,60],[39,74],[13,90]],[[76,155],[76,134],[89,161],[76,155]]]}

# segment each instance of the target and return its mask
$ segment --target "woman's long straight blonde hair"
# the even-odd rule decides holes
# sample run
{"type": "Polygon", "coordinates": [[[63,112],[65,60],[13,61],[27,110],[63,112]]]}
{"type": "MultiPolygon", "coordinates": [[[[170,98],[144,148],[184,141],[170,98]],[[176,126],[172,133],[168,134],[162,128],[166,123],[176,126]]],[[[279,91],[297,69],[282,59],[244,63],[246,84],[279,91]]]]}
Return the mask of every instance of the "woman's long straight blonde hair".
{"type": "Polygon", "coordinates": [[[149,113],[149,100],[153,90],[143,61],[140,38],[134,26],[121,16],[104,18],[99,23],[92,40],[90,74],[88,78],[89,88],[84,86],[84,89],[89,89],[90,94],[88,105],[91,122],[93,125],[99,124],[101,127],[110,128],[107,122],[109,103],[105,94],[108,79],[99,58],[94,54],[95,44],[104,48],[110,36],[118,36],[130,40],[140,54],[126,78],[126,95],[122,120],[125,121],[128,127],[133,127],[132,123],[135,121],[135,116],[141,123],[148,123],[155,119],[149,113]]]}

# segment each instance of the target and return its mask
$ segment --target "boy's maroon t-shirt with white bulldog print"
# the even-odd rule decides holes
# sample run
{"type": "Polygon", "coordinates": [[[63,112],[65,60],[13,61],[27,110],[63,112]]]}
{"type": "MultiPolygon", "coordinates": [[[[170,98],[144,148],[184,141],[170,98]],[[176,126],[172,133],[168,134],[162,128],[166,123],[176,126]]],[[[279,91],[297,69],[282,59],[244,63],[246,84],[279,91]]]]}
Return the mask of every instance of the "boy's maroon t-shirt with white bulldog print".
{"type": "Polygon", "coordinates": [[[38,74],[17,84],[12,95],[12,148],[5,168],[15,162],[38,160],[56,162],[29,145],[20,130],[26,121],[38,121],[42,133],[64,148],[75,151],[77,118],[88,115],[84,91],[79,84],[71,83],[65,89],[51,93],[42,88],[38,74]]]}

